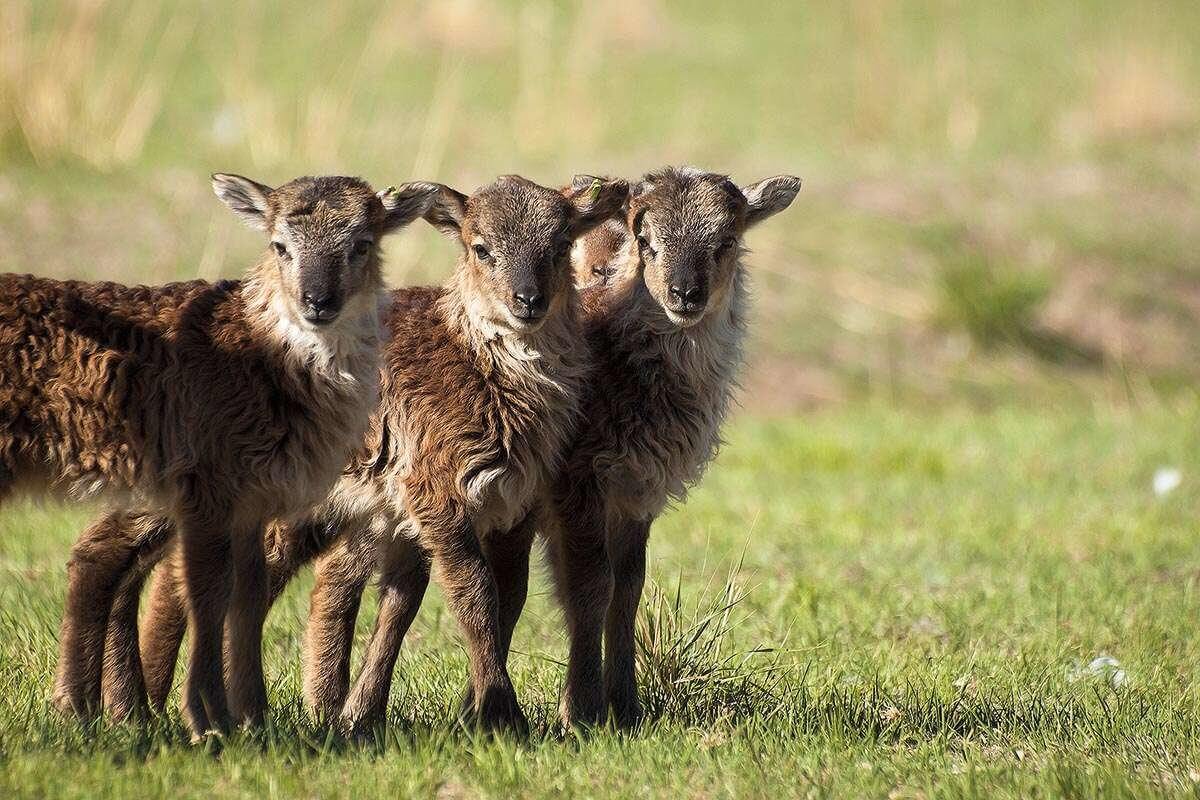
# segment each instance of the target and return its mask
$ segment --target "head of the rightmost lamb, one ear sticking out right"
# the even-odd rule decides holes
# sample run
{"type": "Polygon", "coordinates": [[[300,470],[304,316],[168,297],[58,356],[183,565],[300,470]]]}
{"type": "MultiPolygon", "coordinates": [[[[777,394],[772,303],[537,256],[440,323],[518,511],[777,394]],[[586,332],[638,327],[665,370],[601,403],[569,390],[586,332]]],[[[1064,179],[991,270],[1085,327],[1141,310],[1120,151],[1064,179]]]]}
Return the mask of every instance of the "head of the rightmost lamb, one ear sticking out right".
{"type": "Polygon", "coordinates": [[[738,188],[692,167],[660,169],[630,191],[628,224],[646,287],[679,327],[721,307],[737,273],[742,236],[791,205],[800,180],[776,175],[738,188]]]}

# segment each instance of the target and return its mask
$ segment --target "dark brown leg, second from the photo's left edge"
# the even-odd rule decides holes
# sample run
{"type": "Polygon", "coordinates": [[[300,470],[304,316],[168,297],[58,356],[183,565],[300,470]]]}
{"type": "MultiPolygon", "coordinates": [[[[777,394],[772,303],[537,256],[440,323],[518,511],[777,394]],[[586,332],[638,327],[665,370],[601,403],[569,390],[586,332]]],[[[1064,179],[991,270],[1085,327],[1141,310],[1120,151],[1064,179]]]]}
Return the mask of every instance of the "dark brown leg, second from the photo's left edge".
{"type": "Polygon", "coordinates": [[[149,712],[138,654],[138,601],[146,576],[175,536],[175,527],[166,518],[145,517],[140,522],[144,534],[138,537],[133,564],[118,585],[104,638],[102,698],[104,710],[116,721],[149,712]]]}

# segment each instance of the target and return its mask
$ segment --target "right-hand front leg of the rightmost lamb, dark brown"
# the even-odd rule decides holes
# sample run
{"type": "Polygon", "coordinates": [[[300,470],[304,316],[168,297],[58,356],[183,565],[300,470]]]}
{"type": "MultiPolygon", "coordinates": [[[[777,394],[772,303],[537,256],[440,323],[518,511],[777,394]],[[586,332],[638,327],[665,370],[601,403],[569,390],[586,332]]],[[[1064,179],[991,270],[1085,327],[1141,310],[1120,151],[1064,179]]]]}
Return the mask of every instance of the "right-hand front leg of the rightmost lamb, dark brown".
{"type": "Polygon", "coordinates": [[[642,716],[634,661],[634,625],[646,583],[649,535],[649,521],[629,521],[613,525],[608,537],[614,582],[605,620],[605,687],[613,721],[622,728],[635,727],[642,716]]]}

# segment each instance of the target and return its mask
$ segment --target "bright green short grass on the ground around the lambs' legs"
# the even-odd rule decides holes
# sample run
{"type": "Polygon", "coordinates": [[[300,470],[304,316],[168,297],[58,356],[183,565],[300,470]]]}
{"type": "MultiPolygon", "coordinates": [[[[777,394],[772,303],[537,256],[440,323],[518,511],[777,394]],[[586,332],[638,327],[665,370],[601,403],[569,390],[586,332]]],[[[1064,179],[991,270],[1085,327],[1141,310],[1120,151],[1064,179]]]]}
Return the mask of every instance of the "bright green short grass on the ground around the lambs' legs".
{"type": "Polygon", "coordinates": [[[386,732],[348,745],[314,726],[299,702],[307,577],[269,622],[268,732],[215,753],[188,746],[174,714],[59,720],[47,693],[62,564],[89,515],[11,509],[0,795],[1192,795],[1198,475],[1194,404],[742,419],[652,539],[659,589],[641,631],[654,720],[628,739],[553,734],[563,643],[539,578],[511,663],[534,727],[523,745],[452,726],[466,667],[437,593],[386,732]],[[1164,467],[1183,481],[1157,497],[1164,467]],[[1088,669],[1100,656],[1120,679],[1088,669]]]}

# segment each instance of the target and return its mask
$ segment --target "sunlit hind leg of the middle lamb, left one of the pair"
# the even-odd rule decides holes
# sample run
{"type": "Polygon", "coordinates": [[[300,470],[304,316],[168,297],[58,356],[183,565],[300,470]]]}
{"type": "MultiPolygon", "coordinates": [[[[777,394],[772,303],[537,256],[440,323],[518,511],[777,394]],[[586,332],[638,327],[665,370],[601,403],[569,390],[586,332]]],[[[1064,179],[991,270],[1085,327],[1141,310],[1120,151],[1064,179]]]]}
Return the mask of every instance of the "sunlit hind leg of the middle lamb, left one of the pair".
{"type": "MultiPolygon", "coordinates": [[[[348,535],[350,540],[354,535],[348,535]]],[[[350,649],[362,590],[374,560],[342,541],[317,560],[305,628],[304,696],[320,720],[342,710],[350,684],[350,649]]]]}

